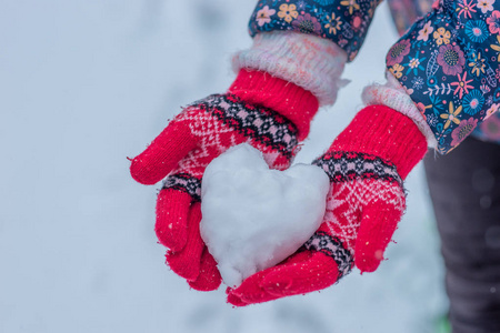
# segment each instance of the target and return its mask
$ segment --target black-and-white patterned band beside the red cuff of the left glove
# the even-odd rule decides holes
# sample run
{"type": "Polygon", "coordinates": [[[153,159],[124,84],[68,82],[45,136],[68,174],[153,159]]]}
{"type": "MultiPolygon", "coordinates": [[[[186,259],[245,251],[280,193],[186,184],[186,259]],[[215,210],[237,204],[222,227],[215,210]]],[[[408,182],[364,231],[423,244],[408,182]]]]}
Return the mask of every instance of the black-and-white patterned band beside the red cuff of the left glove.
{"type": "Polygon", "coordinates": [[[212,94],[190,107],[203,110],[244,137],[279,151],[291,159],[299,143],[297,127],[268,108],[244,103],[236,94],[212,94]]]}

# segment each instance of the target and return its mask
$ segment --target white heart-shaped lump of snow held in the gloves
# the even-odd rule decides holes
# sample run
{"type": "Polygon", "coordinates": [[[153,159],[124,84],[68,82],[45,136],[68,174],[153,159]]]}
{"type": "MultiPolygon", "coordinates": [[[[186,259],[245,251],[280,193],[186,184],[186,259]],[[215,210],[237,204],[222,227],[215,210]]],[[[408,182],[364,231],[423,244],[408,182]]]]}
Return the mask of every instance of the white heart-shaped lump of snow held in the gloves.
{"type": "Polygon", "coordinates": [[[214,159],[201,184],[200,232],[224,283],[237,286],[296,252],[321,224],[329,188],[321,169],[270,170],[249,144],[214,159]]]}

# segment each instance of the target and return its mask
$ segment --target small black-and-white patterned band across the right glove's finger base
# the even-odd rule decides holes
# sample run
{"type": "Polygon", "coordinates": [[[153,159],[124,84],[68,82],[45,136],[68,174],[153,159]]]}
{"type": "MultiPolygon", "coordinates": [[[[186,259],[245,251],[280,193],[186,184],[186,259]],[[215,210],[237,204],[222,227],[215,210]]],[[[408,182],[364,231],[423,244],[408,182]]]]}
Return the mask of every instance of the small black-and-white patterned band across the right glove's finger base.
{"type": "Polygon", "coordinates": [[[347,250],[340,239],[331,236],[323,231],[317,231],[310,239],[303,244],[303,249],[321,252],[328,256],[331,256],[339,270],[339,281],[352,271],[354,266],[354,260],[349,250],[347,250]]]}

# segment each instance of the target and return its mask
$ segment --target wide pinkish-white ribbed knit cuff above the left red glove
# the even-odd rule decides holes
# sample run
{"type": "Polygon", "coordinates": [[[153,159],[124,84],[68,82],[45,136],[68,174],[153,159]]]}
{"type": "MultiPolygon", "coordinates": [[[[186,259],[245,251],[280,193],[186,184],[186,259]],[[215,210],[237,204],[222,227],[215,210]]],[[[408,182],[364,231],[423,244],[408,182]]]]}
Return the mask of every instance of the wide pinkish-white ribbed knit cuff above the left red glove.
{"type": "Polygon", "coordinates": [[[293,82],[312,92],[321,105],[333,104],[347,53],[332,41],[299,32],[262,32],[250,49],[237,52],[234,71],[254,69],[293,82]]]}

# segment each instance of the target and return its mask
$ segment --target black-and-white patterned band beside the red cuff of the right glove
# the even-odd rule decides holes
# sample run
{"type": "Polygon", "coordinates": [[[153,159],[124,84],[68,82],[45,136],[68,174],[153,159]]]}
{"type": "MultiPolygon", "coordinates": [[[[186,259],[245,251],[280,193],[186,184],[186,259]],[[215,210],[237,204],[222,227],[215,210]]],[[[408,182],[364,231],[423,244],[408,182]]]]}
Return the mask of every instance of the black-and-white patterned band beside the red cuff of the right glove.
{"type": "Polygon", "coordinates": [[[403,181],[396,165],[371,154],[343,151],[329,152],[314,160],[312,164],[321,168],[330,178],[330,182],[378,179],[403,186],[403,181]]]}

